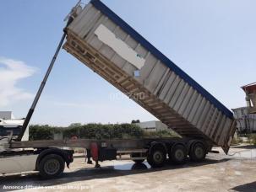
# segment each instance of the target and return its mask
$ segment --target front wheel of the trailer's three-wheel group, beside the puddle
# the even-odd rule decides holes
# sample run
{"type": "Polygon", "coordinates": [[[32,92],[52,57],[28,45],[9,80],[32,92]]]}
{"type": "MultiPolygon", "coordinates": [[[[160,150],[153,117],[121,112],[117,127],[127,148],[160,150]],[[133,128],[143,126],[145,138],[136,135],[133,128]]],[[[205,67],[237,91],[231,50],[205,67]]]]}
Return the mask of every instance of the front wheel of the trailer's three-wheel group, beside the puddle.
{"type": "Polygon", "coordinates": [[[152,147],[147,157],[152,168],[161,168],[166,163],[166,150],[164,147],[152,147]]]}

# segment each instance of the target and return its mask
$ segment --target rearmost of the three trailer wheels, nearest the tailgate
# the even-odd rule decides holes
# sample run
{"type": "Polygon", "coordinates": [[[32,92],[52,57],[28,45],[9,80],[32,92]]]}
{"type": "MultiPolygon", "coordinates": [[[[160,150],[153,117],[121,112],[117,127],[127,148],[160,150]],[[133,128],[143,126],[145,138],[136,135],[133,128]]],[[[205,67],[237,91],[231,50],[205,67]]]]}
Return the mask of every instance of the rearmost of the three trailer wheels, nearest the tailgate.
{"type": "Polygon", "coordinates": [[[189,157],[193,162],[202,162],[205,156],[206,156],[205,147],[200,142],[195,143],[189,152],[189,157]]]}

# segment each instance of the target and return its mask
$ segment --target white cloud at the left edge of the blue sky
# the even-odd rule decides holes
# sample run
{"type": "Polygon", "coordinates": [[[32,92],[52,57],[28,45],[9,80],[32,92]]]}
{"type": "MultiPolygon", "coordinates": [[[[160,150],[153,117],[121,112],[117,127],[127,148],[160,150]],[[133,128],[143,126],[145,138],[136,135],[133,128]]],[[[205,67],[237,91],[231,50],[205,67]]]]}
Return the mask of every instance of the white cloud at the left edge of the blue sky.
{"type": "Polygon", "coordinates": [[[17,83],[32,76],[35,71],[34,67],[27,66],[24,61],[0,57],[0,107],[33,98],[33,94],[19,88],[17,83]]]}

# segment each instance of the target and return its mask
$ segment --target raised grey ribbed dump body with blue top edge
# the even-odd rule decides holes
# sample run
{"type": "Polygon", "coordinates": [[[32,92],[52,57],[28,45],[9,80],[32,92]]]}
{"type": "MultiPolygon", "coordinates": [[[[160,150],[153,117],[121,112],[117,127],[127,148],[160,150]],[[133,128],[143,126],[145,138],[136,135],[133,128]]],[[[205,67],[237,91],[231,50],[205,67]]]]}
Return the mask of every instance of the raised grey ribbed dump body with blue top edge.
{"type": "Polygon", "coordinates": [[[228,152],[235,131],[229,109],[98,0],[68,26],[63,46],[181,136],[228,152]]]}

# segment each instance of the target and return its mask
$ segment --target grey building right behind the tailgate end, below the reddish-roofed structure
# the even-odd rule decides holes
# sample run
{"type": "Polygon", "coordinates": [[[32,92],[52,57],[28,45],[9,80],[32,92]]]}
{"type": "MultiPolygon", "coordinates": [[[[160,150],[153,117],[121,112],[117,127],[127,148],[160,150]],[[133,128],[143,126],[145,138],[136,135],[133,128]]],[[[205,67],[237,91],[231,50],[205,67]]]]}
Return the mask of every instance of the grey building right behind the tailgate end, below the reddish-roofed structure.
{"type": "Polygon", "coordinates": [[[237,129],[239,132],[256,132],[256,114],[249,114],[248,107],[232,109],[234,118],[237,120],[237,129]]]}

